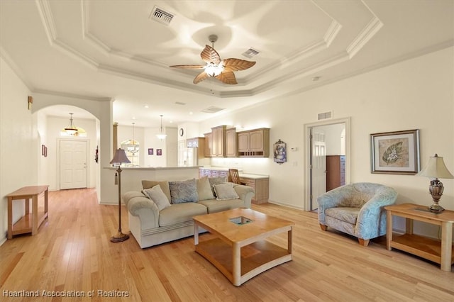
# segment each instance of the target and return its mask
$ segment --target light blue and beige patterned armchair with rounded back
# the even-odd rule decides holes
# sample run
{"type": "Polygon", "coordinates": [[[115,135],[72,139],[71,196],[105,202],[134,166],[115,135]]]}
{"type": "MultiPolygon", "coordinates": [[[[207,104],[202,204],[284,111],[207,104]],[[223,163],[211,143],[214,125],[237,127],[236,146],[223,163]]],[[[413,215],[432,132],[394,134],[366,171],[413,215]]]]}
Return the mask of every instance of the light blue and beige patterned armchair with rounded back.
{"type": "Polygon", "coordinates": [[[396,202],[397,191],[382,184],[359,182],[326,192],[317,198],[319,223],[358,237],[367,247],[369,240],[386,234],[384,206],[396,202]]]}

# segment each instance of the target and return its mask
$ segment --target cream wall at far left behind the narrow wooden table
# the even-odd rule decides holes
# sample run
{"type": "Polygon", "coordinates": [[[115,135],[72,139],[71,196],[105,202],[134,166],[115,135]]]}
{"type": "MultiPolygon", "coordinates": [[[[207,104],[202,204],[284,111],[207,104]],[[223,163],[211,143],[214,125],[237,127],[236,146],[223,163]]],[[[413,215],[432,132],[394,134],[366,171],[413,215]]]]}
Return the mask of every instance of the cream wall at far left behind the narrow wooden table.
{"type": "MultiPolygon", "coordinates": [[[[0,244],[8,230],[6,195],[21,186],[44,184],[38,179],[41,147],[36,118],[27,107],[29,95],[27,86],[0,58],[0,244]]],[[[23,203],[13,203],[13,221],[21,218],[23,210],[23,203]]]]}

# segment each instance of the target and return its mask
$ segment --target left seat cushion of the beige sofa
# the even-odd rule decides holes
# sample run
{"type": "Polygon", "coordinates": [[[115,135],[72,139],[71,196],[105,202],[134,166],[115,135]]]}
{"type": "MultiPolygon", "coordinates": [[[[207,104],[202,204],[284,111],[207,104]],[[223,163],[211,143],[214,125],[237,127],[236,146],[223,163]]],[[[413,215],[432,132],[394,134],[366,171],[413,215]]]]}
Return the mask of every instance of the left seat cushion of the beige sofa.
{"type": "Polygon", "coordinates": [[[208,213],[206,206],[199,203],[187,202],[172,204],[159,213],[159,226],[175,225],[192,220],[193,216],[208,213]]]}

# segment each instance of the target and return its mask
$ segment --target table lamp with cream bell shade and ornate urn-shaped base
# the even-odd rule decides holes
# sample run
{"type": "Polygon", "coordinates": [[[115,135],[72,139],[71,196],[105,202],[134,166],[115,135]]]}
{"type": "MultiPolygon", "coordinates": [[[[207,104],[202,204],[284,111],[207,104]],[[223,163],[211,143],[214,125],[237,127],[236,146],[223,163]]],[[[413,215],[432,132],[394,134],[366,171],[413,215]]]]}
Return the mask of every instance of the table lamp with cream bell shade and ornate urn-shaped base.
{"type": "Polygon", "coordinates": [[[431,156],[426,164],[426,167],[424,167],[424,169],[416,175],[433,179],[431,180],[431,185],[428,186],[428,191],[432,195],[433,199],[433,204],[429,206],[429,210],[434,212],[444,211],[445,209],[438,204],[444,189],[443,183],[438,179],[452,179],[454,176],[453,174],[450,174],[448,168],[446,168],[445,162],[443,162],[443,157],[438,156],[437,154],[435,154],[435,156],[431,156]]]}

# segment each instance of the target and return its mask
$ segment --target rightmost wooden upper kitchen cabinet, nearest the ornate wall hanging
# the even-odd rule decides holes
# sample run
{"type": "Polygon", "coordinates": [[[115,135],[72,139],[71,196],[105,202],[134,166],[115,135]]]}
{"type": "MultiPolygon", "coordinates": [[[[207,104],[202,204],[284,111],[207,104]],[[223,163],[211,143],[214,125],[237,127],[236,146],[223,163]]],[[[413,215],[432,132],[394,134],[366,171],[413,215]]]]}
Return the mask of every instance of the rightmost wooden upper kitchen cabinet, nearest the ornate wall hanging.
{"type": "Polygon", "coordinates": [[[241,131],[238,135],[238,157],[269,157],[270,129],[241,131]]]}

